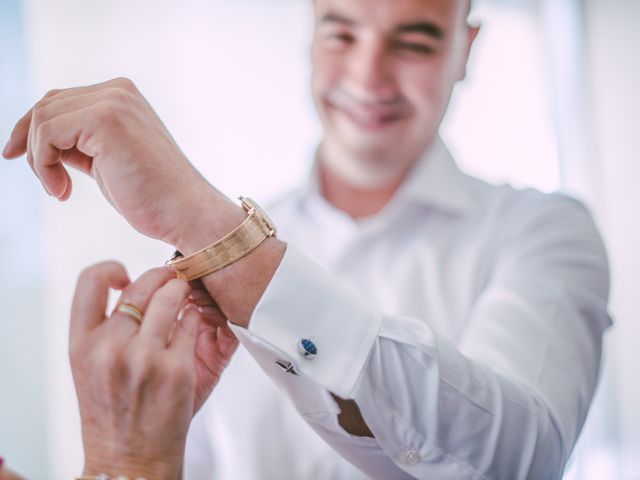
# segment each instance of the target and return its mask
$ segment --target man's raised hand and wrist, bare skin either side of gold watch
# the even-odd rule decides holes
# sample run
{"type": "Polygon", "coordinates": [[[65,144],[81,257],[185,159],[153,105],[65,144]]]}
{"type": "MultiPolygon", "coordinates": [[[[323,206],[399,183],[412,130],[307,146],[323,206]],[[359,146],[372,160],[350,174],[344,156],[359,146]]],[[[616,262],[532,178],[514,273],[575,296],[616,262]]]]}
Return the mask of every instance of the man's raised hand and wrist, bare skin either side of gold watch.
{"type": "MultiPolygon", "coordinates": [[[[246,218],[193,168],[127,79],[49,92],[17,123],[3,154],[17,158],[25,152],[54,197],[69,198],[66,167],[78,168],[95,178],[135,229],[185,255],[222,238],[246,218]]],[[[284,251],[282,242],[267,239],[202,279],[232,322],[248,325],[284,251]]]]}

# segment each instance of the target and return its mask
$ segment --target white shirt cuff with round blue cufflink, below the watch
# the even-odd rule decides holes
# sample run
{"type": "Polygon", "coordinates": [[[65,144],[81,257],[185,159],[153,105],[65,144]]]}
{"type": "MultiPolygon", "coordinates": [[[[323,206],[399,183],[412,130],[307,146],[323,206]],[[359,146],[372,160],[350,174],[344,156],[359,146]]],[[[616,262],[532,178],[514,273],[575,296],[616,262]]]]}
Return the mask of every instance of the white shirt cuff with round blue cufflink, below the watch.
{"type": "MultiPolygon", "coordinates": [[[[257,337],[294,371],[342,398],[351,398],[382,316],[291,245],[254,310],[248,330],[230,324],[238,338],[257,337]],[[298,343],[317,348],[303,356],[298,343]]],[[[245,342],[243,342],[245,343],[245,342]]]]}

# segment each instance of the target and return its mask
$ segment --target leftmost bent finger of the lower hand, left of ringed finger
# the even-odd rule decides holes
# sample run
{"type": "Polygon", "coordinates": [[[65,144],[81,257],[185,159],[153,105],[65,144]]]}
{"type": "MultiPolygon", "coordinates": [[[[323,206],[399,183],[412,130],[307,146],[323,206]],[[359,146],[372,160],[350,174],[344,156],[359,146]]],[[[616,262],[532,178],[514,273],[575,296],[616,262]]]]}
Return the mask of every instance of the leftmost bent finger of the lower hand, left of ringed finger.
{"type": "Polygon", "coordinates": [[[104,262],[84,270],[71,307],[71,343],[76,336],[101,325],[105,319],[109,288],[122,289],[129,277],[117,262],[104,262]]]}

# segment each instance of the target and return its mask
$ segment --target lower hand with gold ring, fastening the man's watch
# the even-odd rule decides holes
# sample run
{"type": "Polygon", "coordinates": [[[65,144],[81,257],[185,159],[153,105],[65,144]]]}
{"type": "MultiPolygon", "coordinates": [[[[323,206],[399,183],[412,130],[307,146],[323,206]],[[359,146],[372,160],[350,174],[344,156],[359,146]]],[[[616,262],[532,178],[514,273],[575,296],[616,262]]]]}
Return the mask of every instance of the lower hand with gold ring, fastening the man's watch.
{"type": "Polygon", "coordinates": [[[197,307],[185,307],[190,290],[168,268],[150,270],[134,283],[115,262],[80,275],[70,357],[85,474],[179,478],[191,418],[224,368],[216,369],[215,361],[228,361],[215,353],[217,329],[216,342],[199,340],[200,314],[197,307]],[[109,288],[122,290],[119,305],[144,312],[141,322],[131,307],[105,314],[109,288]]]}

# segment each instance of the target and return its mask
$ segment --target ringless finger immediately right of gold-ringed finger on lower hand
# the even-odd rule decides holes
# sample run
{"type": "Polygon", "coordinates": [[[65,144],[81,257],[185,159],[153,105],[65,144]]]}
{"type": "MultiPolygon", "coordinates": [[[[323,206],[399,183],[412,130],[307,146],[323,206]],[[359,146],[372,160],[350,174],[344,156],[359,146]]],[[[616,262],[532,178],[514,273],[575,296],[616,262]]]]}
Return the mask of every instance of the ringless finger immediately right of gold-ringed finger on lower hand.
{"type": "Polygon", "coordinates": [[[173,279],[162,286],[151,299],[140,328],[140,336],[166,346],[169,332],[189,293],[189,284],[173,279]]]}

